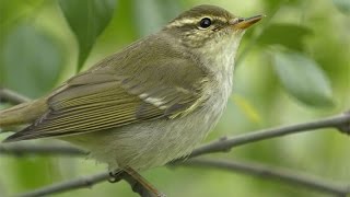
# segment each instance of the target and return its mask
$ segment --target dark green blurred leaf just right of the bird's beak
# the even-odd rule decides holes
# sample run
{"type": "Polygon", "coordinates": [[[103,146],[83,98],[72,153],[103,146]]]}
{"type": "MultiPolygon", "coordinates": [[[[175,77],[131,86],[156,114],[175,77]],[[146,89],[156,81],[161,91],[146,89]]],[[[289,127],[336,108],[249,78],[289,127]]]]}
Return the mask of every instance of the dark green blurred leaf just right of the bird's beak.
{"type": "Polygon", "coordinates": [[[284,47],[302,50],[303,38],[312,31],[305,26],[294,24],[272,24],[267,27],[258,39],[262,46],[282,45],[284,47]]]}

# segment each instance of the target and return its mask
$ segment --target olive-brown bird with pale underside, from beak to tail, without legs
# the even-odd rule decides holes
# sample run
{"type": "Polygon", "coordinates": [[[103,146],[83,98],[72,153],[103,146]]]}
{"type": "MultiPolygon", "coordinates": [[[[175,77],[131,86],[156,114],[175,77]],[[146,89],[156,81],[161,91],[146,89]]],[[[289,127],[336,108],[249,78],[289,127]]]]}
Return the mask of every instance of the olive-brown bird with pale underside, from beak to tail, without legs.
{"type": "Polygon", "coordinates": [[[30,124],[5,141],[58,137],[113,169],[186,155],[222,114],[241,37],[260,19],[212,5],[184,12],[48,96],[0,112],[1,127],[30,124]]]}

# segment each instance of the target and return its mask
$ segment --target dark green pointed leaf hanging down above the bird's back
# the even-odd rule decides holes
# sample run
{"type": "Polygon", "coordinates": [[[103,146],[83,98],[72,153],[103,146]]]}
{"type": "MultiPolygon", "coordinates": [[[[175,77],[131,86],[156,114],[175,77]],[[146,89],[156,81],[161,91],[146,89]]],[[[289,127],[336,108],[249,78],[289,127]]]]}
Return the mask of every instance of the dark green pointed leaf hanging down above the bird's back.
{"type": "Polygon", "coordinates": [[[79,43],[79,71],[113,18],[116,0],[59,0],[59,5],[79,43]]]}

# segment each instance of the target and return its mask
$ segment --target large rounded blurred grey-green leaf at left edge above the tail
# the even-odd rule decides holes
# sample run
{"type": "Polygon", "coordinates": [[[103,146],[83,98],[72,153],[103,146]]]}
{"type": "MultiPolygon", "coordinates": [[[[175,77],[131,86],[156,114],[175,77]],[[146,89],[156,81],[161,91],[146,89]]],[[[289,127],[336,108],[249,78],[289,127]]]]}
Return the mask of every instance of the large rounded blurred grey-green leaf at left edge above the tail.
{"type": "Polygon", "coordinates": [[[62,50],[54,37],[21,24],[9,32],[0,48],[1,85],[31,97],[52,89],[63,65],[62,50]]]}

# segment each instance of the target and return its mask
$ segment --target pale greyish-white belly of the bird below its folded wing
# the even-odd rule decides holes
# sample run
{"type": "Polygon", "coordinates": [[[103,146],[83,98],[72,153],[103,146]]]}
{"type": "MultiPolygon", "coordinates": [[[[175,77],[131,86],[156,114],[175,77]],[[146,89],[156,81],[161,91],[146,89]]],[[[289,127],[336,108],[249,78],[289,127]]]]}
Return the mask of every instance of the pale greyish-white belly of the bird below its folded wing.
{"type": "Polygon", "coordinates": [[[226,100],[213,96],[207,107],[184,117],[79,135],[68,141],[88,149],[91,158],[107,163],[110,170],[130,166],[141,171],[164,165],[192,151],[219,120],[226,100]]]}

